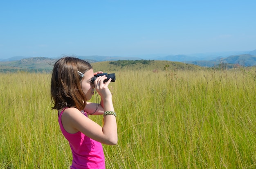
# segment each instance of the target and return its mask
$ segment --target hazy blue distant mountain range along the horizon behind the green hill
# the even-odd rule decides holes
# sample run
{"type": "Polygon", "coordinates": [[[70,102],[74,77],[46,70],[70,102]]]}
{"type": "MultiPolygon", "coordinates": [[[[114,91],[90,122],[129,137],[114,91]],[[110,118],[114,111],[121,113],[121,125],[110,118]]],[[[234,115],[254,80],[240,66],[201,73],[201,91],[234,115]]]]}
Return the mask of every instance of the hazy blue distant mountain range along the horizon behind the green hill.
{"type": "MultiPolygon", "coordinates": [[[[239,64],[249,67],[256,65],[256,50],[254,51],[236,51],[222,53],[198,53],[191,55],[141,55],[141,56],[76,56],[88,62],[103,62],[115,60],[167,60],[173,62],[183,62],[186,64],[195,64],[201,67],[213,67],[218,64],[239,64]]],[[[45,57],[22,57],[17,56],[8,59],[0,59],[1,69],[8,67],[25,69],[49,69],[58,58],[45,57]]]]}

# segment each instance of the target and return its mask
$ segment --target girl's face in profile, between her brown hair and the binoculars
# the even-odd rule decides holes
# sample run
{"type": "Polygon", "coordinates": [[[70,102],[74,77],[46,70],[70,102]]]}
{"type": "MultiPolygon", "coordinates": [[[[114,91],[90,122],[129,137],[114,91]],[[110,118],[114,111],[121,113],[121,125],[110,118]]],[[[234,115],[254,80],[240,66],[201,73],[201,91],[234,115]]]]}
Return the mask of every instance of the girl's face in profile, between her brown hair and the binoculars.
{"type": "Polygon", "coordinates": [[[94,76],[93,70],[90,69],[84,73],[81,85],[83,93],[85,93],[86,100],[90,100],[94,95],[94,84],[91,83],[92,77],[94,76]]]}

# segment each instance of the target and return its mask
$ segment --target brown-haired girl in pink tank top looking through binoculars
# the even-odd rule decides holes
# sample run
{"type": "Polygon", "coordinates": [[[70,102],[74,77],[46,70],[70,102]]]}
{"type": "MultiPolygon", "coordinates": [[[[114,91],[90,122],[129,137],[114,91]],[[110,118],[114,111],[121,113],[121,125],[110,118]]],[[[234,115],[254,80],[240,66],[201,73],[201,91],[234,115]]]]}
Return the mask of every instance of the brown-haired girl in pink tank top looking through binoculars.
{"type": "Polygon", "coordinates": [[[116,113],[112,95],[108,89],[111,78],[99,76],[94,84],[92,66],[85,60],[73,57],[59,59],[52,71],[51,95],[58,110],[61,131],[72,151],[71,169],[105,169],[101,143],[117,144],[116,113]],[[94,91],[101,96],[100,104],[88,102],[94,91]],[[87,115],[103,115],[103,127],[90,120],[87,115]]]}

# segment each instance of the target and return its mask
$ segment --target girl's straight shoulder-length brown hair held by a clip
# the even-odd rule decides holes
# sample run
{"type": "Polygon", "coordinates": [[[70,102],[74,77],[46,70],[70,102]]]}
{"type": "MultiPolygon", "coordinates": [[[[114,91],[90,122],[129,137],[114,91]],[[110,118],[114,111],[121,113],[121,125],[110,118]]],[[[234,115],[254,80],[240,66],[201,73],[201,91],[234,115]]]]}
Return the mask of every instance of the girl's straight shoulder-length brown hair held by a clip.
{"type": "Polygon", "coordinates": [[[82,77],[77,71],[85,73],[92,69],[92,65],[85,60],[65,57],[55,62],[52,70],[51,95],[54,107],[76,107],[80,111],[86,105],[85,93],[81,87],[82,77]]]}

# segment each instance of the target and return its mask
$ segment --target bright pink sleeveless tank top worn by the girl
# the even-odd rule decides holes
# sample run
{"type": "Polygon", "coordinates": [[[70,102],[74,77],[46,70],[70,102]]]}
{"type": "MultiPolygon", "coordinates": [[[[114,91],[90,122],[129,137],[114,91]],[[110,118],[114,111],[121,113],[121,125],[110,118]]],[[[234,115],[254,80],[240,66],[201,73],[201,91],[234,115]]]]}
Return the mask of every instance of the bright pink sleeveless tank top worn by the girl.
{"type": "MultiPolygon", "coordinates": [[[[63,111],[64,110],[65,109],[63,109],[63,111]]],[[[101,143],[92,140],[80,131],[74,134],[65,131],[61,122],[61,116],[63,114],[63,111],[61,111],[58,117],[58,122],[63,135],[70,143],[70,148],[73,155],[72,165],[70,166],[70,168],[105,169],[105,158],[101,143]]],[[[88,117],[85,111],[82,111],[82,113],[86,117],[88,117]]]]}

